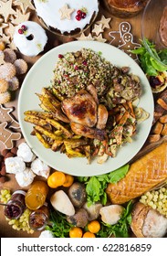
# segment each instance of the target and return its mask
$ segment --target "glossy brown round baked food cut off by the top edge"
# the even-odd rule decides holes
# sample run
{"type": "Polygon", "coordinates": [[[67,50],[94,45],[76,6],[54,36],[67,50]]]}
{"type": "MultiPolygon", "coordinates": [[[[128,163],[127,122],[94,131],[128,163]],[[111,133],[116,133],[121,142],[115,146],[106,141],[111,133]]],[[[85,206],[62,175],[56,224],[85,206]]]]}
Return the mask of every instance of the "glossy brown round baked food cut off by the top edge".
{"type": "Polygon", "coordinates": [[[122,18],[136,16],[149,0],[103,0],[104,5],[113,16],[122,18]]]}

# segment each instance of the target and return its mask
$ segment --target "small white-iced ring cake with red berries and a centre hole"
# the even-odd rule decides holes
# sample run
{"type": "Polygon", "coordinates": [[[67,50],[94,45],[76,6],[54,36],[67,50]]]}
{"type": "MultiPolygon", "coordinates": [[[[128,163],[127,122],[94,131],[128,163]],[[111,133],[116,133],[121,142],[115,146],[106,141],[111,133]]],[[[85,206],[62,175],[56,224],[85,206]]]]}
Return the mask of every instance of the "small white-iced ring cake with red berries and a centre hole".
{"type": "Polygon", "coordinates": [[[16,27],[14,43],[22,54],[33,57],[44,50],[47,35],[37,22],[25,21],[16,27]]]}

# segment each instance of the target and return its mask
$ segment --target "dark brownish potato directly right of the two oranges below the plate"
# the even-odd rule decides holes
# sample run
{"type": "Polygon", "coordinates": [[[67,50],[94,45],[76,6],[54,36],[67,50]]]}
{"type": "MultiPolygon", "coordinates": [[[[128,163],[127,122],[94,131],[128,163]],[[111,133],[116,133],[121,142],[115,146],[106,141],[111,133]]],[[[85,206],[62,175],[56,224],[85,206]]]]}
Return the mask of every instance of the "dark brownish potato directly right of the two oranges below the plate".
{"type": "Polygon", "coordinates": [[[80,208],[86,202],[87,192],[84,184],[75,182],[68,189],[68,197],[74,207],[80,208]]]}

